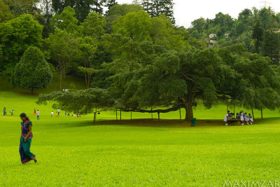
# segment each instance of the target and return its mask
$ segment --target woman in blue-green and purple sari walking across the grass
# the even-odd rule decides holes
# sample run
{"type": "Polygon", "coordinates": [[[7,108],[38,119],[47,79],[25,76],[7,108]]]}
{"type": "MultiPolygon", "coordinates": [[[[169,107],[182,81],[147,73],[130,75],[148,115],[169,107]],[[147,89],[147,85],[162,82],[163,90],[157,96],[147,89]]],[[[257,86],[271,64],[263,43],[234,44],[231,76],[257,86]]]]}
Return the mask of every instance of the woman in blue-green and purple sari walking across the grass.
{"type": "Polygon", "coordinates": [[[27,117],[26,113],[21,113],[20,118],[22,120],[22,135],[20,137],[20,159],[22,160],[22,164],[29,162],[30,160],[34,160],[37,162],[36,155],[31,153],[31,139],[33,137],[32,134],[32,123],[27,117]]]}

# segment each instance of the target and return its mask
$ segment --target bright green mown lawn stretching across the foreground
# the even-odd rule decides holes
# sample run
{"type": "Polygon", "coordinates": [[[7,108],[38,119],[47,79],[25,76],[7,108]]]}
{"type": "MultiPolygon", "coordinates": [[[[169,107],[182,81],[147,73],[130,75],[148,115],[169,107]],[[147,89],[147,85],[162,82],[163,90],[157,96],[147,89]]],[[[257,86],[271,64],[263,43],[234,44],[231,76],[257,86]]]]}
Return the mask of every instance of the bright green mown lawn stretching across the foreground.
{"type": "MultiPolygon", "coordinates": [[[[3,86],[3,85],[2,85],[3,86]]],[[[2,87],[3,88],[3,87],[2,87]]],[[[83,118],[50,118],[50,106],[36,106],[35,95],[1,90],[0,108],[15,116],[0,116],[0,186],[223,186],[225,181],[280,181],[279,111],[265,111],[255,125],[197,127],[174,123],[93,124],[83,118]],[[41,111],[36,121],[33,109],[41,111]],[[20,118],[34,123],[31,151],[38,162],[22,165],[20,118]]],[[[225,106],[195,109],[195,117],[223,120],[225,106]]],[[[183,111],[182,111],[183,115],[183,111]]],[[[133,118],[151,114],[132,113],[133,118]]],[[[255,116],[260,117],[259,111],[255,116]]],[[[154,116],[155,118],[157,116],[154,116]]],[[[97,120],[113,120],[102,112],[97,120]]],[[[123,113],[130,119],[130,113],[123,113]]],[[[161,118],[178,119],[179,112],[161,118]]],[[[204,121],[205,122],[205,121],[204,121]]]]}

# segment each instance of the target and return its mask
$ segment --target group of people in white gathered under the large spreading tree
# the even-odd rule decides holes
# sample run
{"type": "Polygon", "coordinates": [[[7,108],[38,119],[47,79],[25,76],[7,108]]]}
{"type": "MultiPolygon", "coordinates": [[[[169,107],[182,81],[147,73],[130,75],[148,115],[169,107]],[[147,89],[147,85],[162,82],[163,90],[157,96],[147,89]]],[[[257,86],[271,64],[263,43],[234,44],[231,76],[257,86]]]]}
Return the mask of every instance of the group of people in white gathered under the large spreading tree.
{"type": "Polygon", "coordinates": [[[229,121],[240,121],[241,125],[244,125],[244,123],[247,125],[253,125],[253,116],[251,113],[244,113],[244,111],[240,111],[235,116],[235,113],[230,113],[230,111],[228,111],[228,113],[225,114],[223,121],[225,122],[225,125],[228,125],[229,121]]]}

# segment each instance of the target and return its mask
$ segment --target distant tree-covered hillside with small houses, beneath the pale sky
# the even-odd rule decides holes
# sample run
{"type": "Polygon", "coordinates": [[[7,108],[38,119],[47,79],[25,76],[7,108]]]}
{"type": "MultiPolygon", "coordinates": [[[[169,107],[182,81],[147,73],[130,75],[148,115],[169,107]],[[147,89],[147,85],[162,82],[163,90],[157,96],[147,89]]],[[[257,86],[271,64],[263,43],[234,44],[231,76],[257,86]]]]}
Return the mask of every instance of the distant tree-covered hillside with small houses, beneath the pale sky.
{"type": "Polygon", "coordinates": [[[273,64],[280,60],[280,13],[274,13],[272,8],[245,9],[237,19],[228,14],[218,13],[214,19],[200,18],[192,22],[188,29],[193,39],[209,43],[209,35],[217,41],[214,46],[230,46],[244,43],[251,53],[270,57],[273,64]]]}

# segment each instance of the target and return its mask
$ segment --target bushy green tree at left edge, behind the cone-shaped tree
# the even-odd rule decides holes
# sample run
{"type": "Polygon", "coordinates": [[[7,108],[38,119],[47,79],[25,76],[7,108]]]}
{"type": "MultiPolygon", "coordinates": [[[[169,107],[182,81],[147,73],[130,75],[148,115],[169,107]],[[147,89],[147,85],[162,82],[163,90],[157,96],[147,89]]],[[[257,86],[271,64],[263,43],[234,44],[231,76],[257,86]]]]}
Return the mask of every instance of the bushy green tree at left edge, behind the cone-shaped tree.
{"type": "Polygon", "coordinates": [[[32,15],[20,15],[18,18],[0,24],[0,71],[14,67],[29,46],[42,44],[43,27],[32,15]]]}

